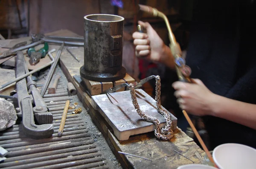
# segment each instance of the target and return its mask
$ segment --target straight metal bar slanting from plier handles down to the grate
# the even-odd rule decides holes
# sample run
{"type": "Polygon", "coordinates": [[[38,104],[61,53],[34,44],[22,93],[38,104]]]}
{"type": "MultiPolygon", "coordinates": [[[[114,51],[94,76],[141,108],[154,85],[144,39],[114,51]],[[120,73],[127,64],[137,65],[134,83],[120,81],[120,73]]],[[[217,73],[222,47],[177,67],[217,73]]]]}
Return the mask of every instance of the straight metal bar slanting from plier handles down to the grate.
{"type": "Polygon", "coordinates": [[[64,47],[64,43],[62,43],[61,47],[58,49],[58,52],[55,56],[55,61],[53,62],[50,70],[49,70],[49,73],[47,74],[47,78],[45,79],[45,82],[44,82],[44,86],[42,87],[42,90],[41,90],[41,95],[44,97],[44,93],[45,91],[47,90],[47,87],[49,85],[49,82],[50,80],[52,79],[52,75],[53,75],[53,72],[56,68],[56,65],[58,63],[58,60],[60,59],[60,56],[61,56],[61,52],[62,52],[62,49],[64,47]]]}

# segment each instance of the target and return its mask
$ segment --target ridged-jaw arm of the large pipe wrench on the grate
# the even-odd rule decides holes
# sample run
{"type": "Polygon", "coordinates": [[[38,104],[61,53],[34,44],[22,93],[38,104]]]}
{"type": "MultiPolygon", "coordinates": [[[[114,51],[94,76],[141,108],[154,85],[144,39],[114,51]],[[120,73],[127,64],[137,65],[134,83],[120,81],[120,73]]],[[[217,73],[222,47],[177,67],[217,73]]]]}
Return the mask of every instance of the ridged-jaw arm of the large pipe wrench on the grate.
{"type": "MultiPolygon", "coordinates": [[[[29,73],[26,62],[24,62],[24,68],[25,73],[29,73]]],[[[33,112],[38,124],[52,124],[52,114],[47,112],[47,105],[37,89],[36,82],[32,80],[30,75],[27,76],[27,87],[29,89],[29,94],[32,94],[33,96],[33,104],[35,104],[35,107],[33,107],[33,112]]]]}

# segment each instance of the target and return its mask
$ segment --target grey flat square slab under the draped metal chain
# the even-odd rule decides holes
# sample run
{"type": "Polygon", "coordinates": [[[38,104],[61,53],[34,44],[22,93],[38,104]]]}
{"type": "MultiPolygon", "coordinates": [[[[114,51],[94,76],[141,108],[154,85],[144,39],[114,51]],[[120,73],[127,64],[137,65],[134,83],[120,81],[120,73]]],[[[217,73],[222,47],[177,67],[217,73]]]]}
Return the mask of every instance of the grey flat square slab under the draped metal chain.
{"type": "MultiPolygon", "coordinates": [[[[160,126],[164,127],[166,121],[163,115],[157,112],[156,101],[142,89],[135,91],[140,110],[146,115],[157,118],[160,121],[160,126]]],[[[92,96],[92,105],[112,127],[118,140],[128,140],[131,135],[155,130],[154,124],[143,120],[136,112],[131,101],[130,91],[92,96]]],[[[168,113],[171,116],[173,124],[172,130],[175,130],[177,127],[177,118],[170,112],[168,113]]]]}

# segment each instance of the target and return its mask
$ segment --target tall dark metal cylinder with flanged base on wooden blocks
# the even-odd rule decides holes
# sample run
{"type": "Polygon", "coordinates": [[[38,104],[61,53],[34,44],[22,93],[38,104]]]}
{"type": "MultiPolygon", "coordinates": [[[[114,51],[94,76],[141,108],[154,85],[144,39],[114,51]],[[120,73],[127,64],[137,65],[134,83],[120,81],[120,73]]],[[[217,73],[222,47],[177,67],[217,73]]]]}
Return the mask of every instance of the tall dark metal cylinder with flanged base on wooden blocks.
{"type": "Polygon", "coordinates": [[[110,14],[84,17],[84,66],[81,77],[96,82],[124,78],[122,67],[124,18],[110,14]]]}

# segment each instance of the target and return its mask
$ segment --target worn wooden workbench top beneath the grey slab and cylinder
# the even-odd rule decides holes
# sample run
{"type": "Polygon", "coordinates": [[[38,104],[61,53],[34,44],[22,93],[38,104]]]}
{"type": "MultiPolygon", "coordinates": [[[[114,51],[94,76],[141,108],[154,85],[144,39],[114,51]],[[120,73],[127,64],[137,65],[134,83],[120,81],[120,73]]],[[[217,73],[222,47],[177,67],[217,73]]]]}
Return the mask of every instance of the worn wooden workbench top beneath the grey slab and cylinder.
{"type": "MultiPolygon", "coordinates": [[[[78,35],[67,30],[56,31],[51,33],[51,35],[78,37],[78,35]]],[[[56,48],[56,50],[58,50],[59,46],[49,45],[49,49],[51,48],[56,48]]],[[[127,141],[118,141],[113,135],[111,127],[107,124],[102,115],[100,115],[97,110],[93,109],[90,96],[73,79],[74,75],[79,75],[79,69],[84,64],[84,48],[79,47],[74,49],[72,52],[80,60],[80,62],[73,59],[66,49],[64,49],[60,57],[61,69],[67,76],[67,79],[75,85],[77,89],[77,96],[79,96],[79,99],[84,104],[84,107],[87,108],[87,111],[94,123],[102,132],[113,153],[116,155],[116,158],[119,159],[124,168],[177,169],[177,167],[180,165],[192,163],[188,159],[179,155],[177,152],[180,152],[181,154],[190,158],[195,163],[202,163],[202,157],[205,155],[204,151],[200,149],[192,138],[189,138],[179,128],[175,130],[175,135],[170,141],[158,140],[154,136],[154,132],[131,136],[127,141]],[[118,151],[149,158],[152,160],[152,162],[143,160],[141,158],[121,155],[118,153],[118,151]]]]}

